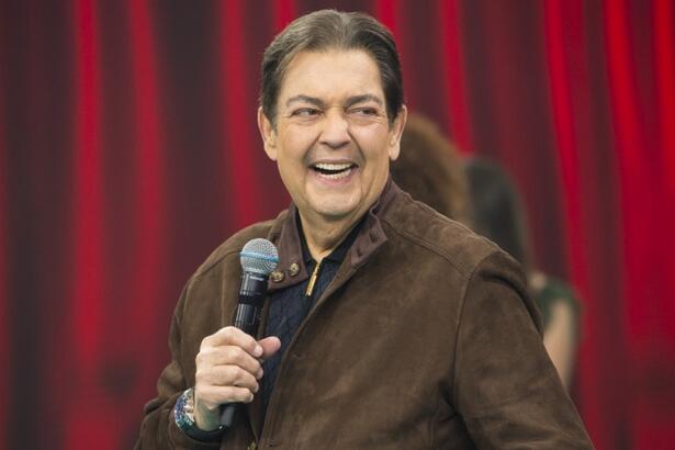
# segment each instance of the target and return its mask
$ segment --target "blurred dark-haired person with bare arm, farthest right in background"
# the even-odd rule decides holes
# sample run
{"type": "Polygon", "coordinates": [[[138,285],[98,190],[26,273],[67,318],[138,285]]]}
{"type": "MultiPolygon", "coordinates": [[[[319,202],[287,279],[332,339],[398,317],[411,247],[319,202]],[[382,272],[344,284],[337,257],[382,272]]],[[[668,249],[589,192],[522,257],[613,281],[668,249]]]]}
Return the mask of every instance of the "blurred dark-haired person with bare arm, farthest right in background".
{"type": "Polygon", "coordinates": [[[522,263],[543,316],[544,346],[569,390],[578,342],[578,301],[565,282],[533,267],[527,216],[518,190],[507,172],[495,162],[480,158],[468,159],[464,170],[474,229],[522,263]]]}

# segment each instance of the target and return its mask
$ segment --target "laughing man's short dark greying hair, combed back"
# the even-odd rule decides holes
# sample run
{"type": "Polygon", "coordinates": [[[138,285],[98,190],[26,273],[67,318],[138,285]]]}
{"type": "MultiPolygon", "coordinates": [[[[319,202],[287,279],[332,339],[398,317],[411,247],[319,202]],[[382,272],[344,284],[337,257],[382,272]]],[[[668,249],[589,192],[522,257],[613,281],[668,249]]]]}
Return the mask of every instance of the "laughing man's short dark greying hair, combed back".
{"type": "Polygon", "coordinates": [[[291,22],[262,55],[260,105],[272,124],[277,123],[277,100],[293,57],[333,48],[362,49],[372,56],[380,69],[389,121],[396,119],[403,105],[403,77],[392,33],[363,13],[320,10],[291,22]]]}

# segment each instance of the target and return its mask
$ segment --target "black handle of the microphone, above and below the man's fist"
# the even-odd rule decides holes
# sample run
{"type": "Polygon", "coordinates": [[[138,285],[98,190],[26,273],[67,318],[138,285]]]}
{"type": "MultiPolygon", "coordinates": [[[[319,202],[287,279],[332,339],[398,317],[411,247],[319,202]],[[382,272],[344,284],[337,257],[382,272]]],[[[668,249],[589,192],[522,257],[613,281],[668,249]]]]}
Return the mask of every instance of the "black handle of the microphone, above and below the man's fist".
{"type": "MultiPolygon", "coordinates": [[[[260,324],[260,310],[267,293],[267,277],[258,273],[241,273],[239,288],[239,304],[235,316],[235,327],[244,333],[256,336],[260,324]]],[[[239,403],[228,403],[221,408],[221,425],[232,427],[239,403]]]]}

